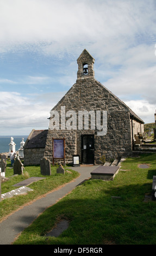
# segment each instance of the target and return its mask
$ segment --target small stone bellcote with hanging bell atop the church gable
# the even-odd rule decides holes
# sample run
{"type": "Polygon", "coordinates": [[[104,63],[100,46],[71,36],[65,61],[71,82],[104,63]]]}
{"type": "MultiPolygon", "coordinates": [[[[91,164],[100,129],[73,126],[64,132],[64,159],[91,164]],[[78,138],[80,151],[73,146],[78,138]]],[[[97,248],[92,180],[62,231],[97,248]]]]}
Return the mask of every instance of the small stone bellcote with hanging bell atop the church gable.
{"type": "Polygon", "coordinates": [[[84,78],[94,78],[94,71],[93,71],[93,63],[95,59],[89,54],[88,51],[85,49],[83,50],[82,54],[80,54],[79,58],[77,59],[78,63],[78,72],[77,72],[77,79],[84,79],[84,78]]]}

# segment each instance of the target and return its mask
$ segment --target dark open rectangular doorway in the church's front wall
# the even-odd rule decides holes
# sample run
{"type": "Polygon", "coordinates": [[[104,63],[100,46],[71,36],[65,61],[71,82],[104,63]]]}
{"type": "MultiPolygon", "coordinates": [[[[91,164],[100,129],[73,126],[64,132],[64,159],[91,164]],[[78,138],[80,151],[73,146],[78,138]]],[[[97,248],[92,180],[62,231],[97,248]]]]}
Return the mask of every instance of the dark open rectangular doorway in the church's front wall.
{"type": "Polygon", "coordinates": [[[82,135],[82,163],[94,164],[94,135],[82,135]]]}

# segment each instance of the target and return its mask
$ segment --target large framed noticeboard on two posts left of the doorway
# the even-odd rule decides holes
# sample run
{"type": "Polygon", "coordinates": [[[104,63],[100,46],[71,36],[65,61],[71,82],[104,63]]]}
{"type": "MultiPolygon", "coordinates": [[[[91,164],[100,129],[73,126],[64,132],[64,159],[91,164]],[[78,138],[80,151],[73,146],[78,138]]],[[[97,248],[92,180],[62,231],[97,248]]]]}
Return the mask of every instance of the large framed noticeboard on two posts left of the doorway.
{"type": "Polygon", "coordinates": [[[53,166],[54,159],[64,160],[65,166],[65,137],[63,139],[53,138],[53,166]]]}

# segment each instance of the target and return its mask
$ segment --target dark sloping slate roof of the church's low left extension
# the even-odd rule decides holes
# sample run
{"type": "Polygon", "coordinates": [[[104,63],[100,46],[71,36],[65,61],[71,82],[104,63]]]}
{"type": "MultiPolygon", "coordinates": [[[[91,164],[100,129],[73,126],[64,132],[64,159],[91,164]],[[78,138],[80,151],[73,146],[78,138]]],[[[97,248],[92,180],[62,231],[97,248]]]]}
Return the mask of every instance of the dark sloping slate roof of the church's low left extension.
{"type": "Polygon", "coordinates": [[[24,144],[24,149],[45,148],[47,133],[48,130],[33,130],[24,144]]]}

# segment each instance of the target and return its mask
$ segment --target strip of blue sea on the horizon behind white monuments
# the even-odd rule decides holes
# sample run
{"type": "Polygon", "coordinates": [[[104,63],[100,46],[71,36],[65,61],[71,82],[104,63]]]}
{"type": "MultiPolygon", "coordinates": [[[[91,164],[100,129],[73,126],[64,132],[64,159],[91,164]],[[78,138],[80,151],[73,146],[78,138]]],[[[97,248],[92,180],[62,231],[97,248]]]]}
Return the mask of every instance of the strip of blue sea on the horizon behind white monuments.
{"type": "Polygon", "coordinates": [[[17,136],[0,136],[0,153],[9,152],[9,143],[11,141],[11,137],[14,138],[15,142],[15,150],[18,151],[21,147],[22,138],[24,138],[24,142],[26,142],[28,135],[17,135],[17,136]]]}

